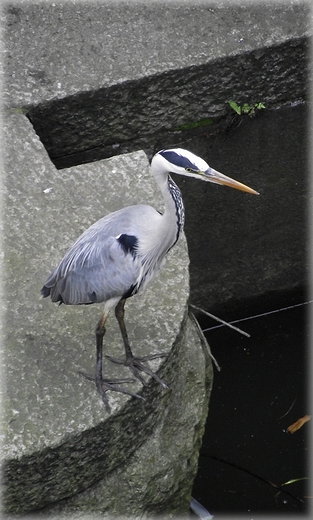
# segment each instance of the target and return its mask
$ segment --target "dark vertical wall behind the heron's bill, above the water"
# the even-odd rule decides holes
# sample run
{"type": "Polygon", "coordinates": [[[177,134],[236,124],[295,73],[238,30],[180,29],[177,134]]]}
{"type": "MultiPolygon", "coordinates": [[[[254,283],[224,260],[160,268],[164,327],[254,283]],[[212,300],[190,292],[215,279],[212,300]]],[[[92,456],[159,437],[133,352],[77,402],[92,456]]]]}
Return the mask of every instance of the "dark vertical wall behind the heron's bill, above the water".
{"type": "Polygon", "coordinates": [[[270,301],[272,293],[306,287],[312,266],[308,107],[294,103],[239,122],[198,137],[192,149],[260,196],[177,179],[187,215],[190,301],[233,319],[243,300],[270,301]]]}

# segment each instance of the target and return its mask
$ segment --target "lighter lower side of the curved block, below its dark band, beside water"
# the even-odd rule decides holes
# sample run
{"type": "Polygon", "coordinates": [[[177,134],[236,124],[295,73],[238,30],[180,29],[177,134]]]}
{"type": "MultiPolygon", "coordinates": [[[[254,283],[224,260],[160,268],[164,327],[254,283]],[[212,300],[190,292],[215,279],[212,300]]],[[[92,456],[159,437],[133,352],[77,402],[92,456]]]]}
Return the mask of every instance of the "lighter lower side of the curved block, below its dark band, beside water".
{"type": "MultiPolygon", "coordinates": [[[[46,507],[40,518],[173,518],[187,514],[190,502],[190,482],[197,468],[198,450],[204,427],[208,399],[198,399],[194,389],[203,388],[204,377],[208,393],[212,382],[212,366],[205,374],[203,355],[195,351],[199,344],[197,332],[188,320],[186,335],[180,343],[175,371],[175,390],[168,396],[166,411],[156,425],[153,436],[88,490],[46,507]],[[200,375],[200,377],[199,377],[200,375]],[[181,410],[184,409],[184,417],[181,410]],[[188,431],[188,436],[186,436],[188,431]],[[192,442],[190,442],[190,438],[192,442]],[[99,516],[98,516],[99,515],[99,516]]],[[[174,372],[173,372],[174,373],[174,372]]],[[[32,515],[36,518],[37,515],[32,515]]]]}

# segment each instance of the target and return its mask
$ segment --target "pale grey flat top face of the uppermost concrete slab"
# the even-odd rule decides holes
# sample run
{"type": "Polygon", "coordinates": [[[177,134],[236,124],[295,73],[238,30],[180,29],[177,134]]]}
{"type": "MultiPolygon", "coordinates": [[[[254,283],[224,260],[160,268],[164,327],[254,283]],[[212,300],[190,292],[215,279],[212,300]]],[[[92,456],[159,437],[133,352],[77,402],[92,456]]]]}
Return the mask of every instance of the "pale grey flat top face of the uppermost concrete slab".
{"type": "Polygon", "coordinates": [[[309,5],[295,0],[26,0],[2,10],[4,96],[15,107],[197,67],[311,33],[309,5]]]}

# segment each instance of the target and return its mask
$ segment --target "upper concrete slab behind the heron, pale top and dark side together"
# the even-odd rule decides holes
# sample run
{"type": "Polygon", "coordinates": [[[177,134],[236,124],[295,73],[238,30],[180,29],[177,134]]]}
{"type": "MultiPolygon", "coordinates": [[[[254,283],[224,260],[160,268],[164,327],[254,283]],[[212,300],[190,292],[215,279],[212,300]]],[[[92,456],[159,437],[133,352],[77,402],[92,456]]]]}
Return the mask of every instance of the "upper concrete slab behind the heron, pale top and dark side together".
{"type": "Polygon", "coordinates": [[[229,99],[303,95],[302,2],[17,3],[4,18],[5,104],[28,110],[58,164],[146,148],[229,99]]]}

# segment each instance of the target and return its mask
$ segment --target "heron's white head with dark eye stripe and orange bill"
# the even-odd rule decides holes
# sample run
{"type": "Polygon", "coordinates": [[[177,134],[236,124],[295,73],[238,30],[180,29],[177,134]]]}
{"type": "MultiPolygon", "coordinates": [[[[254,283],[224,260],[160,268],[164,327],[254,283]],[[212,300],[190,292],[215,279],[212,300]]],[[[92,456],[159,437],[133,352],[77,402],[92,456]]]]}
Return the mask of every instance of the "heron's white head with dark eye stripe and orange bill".
{"type": "Polygon", "coordinates": [[[258,192],[249,188],[241,182],[235,181],[226,175],[211,168],[201,157],[183,150],[182,148],[171,148],[160,150],[152,159],[152,168],[164,169],[168,173],[177,173],[186,177],[194,177],[202,181],[223,184],[230,188],[246,191],[258,195],[258,192]]]}

